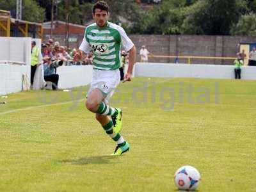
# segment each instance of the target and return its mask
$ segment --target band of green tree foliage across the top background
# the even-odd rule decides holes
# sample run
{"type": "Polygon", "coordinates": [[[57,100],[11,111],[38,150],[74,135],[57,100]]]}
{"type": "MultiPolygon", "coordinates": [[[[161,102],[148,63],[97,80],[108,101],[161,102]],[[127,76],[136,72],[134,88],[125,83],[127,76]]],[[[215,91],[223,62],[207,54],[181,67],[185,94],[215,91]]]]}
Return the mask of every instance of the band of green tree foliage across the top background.
{"type": "MultiPolygon", "coordinates": [[[[109,20],[122,23],[127,33],[157,35],[254,35],[256,0],[164,0],[141,8],[135,0],[106,0],[109,20]]],[[[69,21],[86,24],[92,20],[94,0],[70,0],[69,21]]],[[[54,20],[66,20],[67,1],[54,6],[54,20]]],[[[22,19],[51,20],[52,0],[23,0],[22,19]]],[[[15,17],[16,1],[0,0],[0,8],[15,17]]]]}

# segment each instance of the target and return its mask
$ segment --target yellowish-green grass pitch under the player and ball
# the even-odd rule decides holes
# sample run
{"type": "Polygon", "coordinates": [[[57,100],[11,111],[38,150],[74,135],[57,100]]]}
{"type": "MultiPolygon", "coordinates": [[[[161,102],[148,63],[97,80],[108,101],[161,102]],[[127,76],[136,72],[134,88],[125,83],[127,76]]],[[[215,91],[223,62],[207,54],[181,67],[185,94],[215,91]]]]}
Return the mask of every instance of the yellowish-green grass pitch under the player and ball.
{"type": "Polygon", "coordinates": [[[84,108],[87,88],[0,97],[0,191],[177,191],[195,166],[198,191],[256,191],[255,81],[134,78],[111,106],[123,110],[131,150],[84,108]]]}

